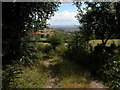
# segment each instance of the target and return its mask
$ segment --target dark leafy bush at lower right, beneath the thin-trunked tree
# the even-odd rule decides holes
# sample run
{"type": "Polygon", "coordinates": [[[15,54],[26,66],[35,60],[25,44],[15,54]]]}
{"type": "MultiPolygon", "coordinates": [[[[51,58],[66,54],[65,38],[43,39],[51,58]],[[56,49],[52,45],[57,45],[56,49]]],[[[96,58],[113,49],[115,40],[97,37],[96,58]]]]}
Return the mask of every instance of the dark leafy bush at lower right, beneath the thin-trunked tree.
{"type": "Polygon", "coordinates": [[[105,50],[93,51],[90,54],[92,75],[102,80],[110,89],[120,89],[120,54],[105,50]]]}

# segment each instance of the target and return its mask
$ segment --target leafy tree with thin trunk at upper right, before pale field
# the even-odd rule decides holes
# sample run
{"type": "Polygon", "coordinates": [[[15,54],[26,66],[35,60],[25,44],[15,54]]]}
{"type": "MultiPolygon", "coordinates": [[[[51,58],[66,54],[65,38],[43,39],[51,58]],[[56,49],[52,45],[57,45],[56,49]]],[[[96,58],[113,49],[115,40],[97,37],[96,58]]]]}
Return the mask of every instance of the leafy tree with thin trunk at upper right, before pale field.
{"type": "Polygon", "coordinates": [[[85,2],[84,4],[85,12],[82,10],[81,2],[75,3],[79,11],[76,17],[81,24],[81,32],[88,38],[96,35],[105,46],[112,36],[120,33],[120,3],[85,2]]]}

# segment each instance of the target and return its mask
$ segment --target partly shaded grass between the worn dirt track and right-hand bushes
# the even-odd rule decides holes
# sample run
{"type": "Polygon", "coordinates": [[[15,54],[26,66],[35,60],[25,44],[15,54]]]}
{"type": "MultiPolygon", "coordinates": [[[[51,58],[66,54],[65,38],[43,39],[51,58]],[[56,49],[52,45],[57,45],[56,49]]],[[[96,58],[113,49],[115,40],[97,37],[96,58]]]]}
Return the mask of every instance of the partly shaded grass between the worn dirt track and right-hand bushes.
{"type": "Polygon", "coordinates": [[[90,77],[89,72],[74,63],[66,60],[59,60],[61,62],[54,65],[53,70],[56,76],[60,79],[58,88],[89,88],[90,77]]]}

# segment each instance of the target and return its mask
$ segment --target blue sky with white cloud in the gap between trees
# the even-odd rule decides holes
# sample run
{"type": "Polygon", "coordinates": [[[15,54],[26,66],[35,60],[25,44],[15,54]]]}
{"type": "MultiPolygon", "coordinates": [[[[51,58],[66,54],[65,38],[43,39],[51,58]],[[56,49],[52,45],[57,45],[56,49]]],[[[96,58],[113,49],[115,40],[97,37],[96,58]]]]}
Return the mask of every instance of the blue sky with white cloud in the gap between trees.
{"type": "Polygon", "coordinates": [[[48,20],[50,25],[79,25],[75,16],[77,15],[77,7],[73,3],[62,3],[58,7],[58,11],[48,20]]]}

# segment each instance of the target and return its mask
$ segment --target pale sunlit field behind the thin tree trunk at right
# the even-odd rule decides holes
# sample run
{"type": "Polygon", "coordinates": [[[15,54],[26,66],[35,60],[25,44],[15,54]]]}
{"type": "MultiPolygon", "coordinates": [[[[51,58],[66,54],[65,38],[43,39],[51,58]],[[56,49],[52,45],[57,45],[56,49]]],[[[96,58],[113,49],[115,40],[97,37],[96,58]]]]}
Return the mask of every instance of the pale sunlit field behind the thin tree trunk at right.
{"type": "MultiPolygon", "coordinates": [[[[108,40],[107,42],[107,46],[110,46],[111,43],[115,43],[117,46],[120,45],[120,39],[110,39],[108,40]]],[[[93,45],[93,46],[96,46],[98,43],[102,43],[101,40],[91,40],[90,43],[93,45]]]]}

